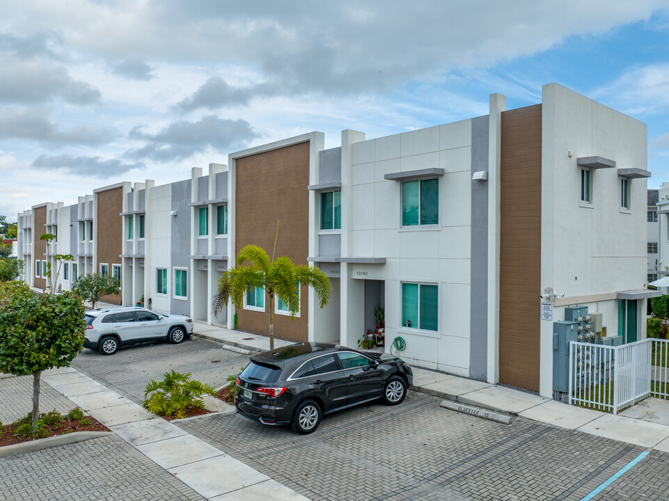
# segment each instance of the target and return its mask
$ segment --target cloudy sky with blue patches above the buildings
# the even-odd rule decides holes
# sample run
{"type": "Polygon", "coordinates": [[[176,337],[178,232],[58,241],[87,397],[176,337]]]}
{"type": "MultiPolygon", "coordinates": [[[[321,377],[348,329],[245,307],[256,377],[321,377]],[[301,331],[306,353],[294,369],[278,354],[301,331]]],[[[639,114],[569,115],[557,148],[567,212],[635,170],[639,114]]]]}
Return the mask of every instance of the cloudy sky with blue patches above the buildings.
{"type": "Polygon", "coordinates": [[[669,181],[669,1],[0,0],[0,214],[553,81],[646,122],[649,187],[669,181]]]}

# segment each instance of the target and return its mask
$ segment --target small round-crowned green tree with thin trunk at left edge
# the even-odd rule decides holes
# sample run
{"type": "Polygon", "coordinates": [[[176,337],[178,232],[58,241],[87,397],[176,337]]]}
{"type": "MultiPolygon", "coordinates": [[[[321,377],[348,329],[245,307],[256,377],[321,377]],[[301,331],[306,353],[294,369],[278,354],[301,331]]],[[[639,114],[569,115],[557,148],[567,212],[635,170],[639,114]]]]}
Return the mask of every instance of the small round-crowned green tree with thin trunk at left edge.
{"type": "Polygon", "coordinates": [[[0,372],[33,376],[33,429],[40,417],[42,371],[69,367],[84,348],[79,296],[35,294],[25,283],[0,283],[0,372]]]}

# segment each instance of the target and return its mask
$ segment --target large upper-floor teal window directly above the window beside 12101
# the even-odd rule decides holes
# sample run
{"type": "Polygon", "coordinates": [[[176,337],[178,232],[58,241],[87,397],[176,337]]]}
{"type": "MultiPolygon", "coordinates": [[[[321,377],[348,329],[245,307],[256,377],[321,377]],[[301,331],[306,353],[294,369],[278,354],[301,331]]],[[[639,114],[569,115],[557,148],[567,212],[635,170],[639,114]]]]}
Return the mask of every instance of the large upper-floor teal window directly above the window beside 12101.
{"type": "Polygon", "coordinates": [[[402,226],[439,223],[439,180],[402,183],[402,226]]]}

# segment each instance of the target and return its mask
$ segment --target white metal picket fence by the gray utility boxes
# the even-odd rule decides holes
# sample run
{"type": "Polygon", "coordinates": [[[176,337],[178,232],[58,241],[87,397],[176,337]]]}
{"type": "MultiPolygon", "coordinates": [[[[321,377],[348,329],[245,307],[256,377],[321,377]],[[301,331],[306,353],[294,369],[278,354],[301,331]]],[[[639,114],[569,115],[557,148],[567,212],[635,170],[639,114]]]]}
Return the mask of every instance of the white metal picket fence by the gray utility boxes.
{"type": "Polygon", "coordinates": [[[569,343],[569,404],[617,414],[650,395],[667,398],[669,342],[646,339],[618,347],[569,343]]]}

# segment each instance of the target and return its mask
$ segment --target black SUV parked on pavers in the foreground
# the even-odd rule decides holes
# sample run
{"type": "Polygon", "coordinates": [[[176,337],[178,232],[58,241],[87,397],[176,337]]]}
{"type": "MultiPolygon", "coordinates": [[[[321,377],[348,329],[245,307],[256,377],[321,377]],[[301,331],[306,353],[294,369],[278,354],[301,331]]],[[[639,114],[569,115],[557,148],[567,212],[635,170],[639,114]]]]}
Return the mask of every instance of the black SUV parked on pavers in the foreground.
{"type": "Polygon", "coordinates": [[[252,356],[237,376],[237,412],[263,424],[292,424],[301,434],[321,417],[382,399],[397,405],[414,374],[400,358],[322,343],[299,343],[252,356]]]}

